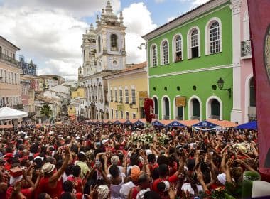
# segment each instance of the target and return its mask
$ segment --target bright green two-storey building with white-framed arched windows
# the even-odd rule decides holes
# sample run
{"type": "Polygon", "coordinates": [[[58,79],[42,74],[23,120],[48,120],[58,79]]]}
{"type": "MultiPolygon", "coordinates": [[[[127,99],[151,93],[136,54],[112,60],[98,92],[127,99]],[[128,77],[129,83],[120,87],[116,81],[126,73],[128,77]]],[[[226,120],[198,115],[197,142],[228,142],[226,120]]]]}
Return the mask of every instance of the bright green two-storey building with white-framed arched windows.
{"type": "Polygon", "coordinates": [[[233,64],[229,0],[208,1],[143,38],[148,46],[148,93],[158,119],[230,120],[233,64]]]}

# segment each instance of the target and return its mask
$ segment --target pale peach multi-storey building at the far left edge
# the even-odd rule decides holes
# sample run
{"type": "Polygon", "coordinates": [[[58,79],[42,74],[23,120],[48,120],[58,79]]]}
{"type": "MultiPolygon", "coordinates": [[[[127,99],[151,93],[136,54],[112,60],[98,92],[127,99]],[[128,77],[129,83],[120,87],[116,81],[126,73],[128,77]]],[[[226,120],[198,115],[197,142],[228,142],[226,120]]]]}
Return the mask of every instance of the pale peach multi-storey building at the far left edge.
{"type": "Polygon", "coordinates": [[[0,107],[22,109],[18,50],[16,45],[0,36],[0,107]]]}

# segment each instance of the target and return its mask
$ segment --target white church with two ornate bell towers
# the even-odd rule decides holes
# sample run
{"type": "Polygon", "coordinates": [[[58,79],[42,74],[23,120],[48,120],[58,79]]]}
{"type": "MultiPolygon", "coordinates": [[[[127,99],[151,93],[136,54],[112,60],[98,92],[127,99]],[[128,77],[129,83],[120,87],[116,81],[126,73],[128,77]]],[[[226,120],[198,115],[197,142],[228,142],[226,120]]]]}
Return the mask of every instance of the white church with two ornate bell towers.
{"type": "Polygon", "coordinates": [[[123,16],[113,14],[110,1],[82,37],[82,67],[78,68],[79,86],[85,88],[85,117],[109,119],[108,88],[105,76],[126,68],[123,16]]]}

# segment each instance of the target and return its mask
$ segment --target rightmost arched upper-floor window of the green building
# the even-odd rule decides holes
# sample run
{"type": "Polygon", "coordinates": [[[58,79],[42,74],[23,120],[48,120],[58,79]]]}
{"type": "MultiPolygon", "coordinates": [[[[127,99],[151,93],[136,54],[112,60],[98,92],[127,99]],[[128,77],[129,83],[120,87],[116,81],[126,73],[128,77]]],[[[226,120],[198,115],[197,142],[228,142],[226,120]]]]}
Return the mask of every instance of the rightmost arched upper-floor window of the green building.
{"type": "Polygon", "coordinates": [[[220,24],[215,21],[210,26],[210,54],[220,52],[220,24]]]}

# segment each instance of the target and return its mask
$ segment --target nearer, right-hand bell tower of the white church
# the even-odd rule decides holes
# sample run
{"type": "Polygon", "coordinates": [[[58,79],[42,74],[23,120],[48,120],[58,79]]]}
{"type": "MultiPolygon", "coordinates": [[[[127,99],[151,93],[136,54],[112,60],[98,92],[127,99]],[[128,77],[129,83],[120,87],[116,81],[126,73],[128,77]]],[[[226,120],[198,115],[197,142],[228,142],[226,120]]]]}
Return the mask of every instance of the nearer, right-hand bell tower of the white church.
{"type": "Polygon", "coordinates": [[[97,72],[102,70],[123,70],[126,66],[125,30],[123,15],[118,18],[112,13],[112,6],[107,2],[102,15],[97,16],[97,72]]]}

